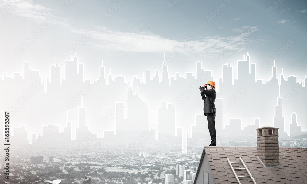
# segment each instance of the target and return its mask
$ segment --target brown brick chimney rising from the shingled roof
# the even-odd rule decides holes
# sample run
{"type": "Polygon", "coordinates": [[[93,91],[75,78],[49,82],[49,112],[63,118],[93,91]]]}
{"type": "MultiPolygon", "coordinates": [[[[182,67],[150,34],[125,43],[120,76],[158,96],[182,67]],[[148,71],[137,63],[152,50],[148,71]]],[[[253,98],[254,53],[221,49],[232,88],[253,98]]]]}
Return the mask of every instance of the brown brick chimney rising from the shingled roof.
{"type": "Polygon", "coordinates": [[[265,167],[279,166],[278,128],[257,128],[257,155],[265,167]]]}

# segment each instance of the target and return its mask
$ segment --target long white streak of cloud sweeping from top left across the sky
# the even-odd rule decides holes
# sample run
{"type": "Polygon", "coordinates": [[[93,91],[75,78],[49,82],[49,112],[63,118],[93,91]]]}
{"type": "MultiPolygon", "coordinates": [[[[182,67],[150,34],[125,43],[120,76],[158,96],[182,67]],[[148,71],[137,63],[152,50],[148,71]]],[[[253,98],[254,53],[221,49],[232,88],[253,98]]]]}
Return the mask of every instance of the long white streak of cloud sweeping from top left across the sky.
{"type": "MultiPolygon", "coordinates": [[[[1,0],[1,8],[6,9],[11,3],[1,0]]],[[[17,16],[26,17],[38,23],[49,20],[52,25],[63,26],[72,33],[88,34],[91,38],[91,42],[89,41],[88,44],[106,53],[120,53],[123,48],[134,42],[129,52],[178,52],[184,55],[200,54],[215,58],[230,47],[234,52],[244,50],[246,44],[254,43],[251,39],[248,39],[250,33],[258,30],[256,26],[243,26],[242,28],[233,29],[234,32],[240,33],[238,36],[213,36],[206,37],[203,40],[177,41],[162,38],[159,35],[150,33],[150,31],[148,33],[121,32],[103,26],[79,29],[72,26],[67,19],[54,16],[52,12],[56,13],[55,10],[34,4],[32,0],[15,0],[14,11],[12,11],[17,16]]],[[[146,26],[144,25],[144,28],[146,26]]],[[[154,25],[152,29],[154,29],[154,25]]]]}

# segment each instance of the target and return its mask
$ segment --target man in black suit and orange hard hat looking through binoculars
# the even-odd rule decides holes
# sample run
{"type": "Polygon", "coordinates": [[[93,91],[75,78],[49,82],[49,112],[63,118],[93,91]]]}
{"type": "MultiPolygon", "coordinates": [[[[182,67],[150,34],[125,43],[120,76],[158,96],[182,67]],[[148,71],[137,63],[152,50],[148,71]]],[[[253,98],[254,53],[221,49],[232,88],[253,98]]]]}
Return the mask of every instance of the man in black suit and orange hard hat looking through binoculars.
{"type": "Polygon", "coordinates": [[[207,116],[208,121],[208,129],[211,136],[211,144],[209,146],[216,146],[216,130],[215,130],[215,121],[214,118],[216,116],[215,109],[215,82],[208,81],[203,86],[200,86],[200,94],[201,98],[204,100],[204,115],[207,116]],[[206,89],[206,90],[205,90],[206,89]]]}

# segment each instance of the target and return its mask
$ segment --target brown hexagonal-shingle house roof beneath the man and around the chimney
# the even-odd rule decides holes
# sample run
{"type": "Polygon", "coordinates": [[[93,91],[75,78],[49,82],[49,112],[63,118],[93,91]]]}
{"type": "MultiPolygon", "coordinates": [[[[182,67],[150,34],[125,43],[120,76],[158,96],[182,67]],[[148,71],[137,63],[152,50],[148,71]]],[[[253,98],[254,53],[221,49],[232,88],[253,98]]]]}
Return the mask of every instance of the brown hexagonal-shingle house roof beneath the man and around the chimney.
{"type": "MultiPolygon", "coordinates": [[[[240,162],[241,157],[256,183],[307,183],[307,148],[279,148],[280,167],[265,168],[257,158],[257,147],[204,147],[202,159],[208,157],[215,183],[238,183],[227,158],[231,162],[240,162]],[[205,151],[205,153],[204,153],[205,151]],[[207,155],[204,156],[204,155],[207,155]]],[[[200,161],[201,164],[208,162],[200,161]]],[[[234,168],[242,164],[232,163],[234,168]]],[[[198,167],[200,170],[200,166],[198,167]]],[[[196,173],[194,184],[199,172],[196,173]]],[[[248,175],[245,170],[236,170],[236,174],[248,175]]],[[[202,180],[202,178],[199,178],[202,180]]],[[[252,184],[251,178],[241,178],[242,184],[252,184]]]]}

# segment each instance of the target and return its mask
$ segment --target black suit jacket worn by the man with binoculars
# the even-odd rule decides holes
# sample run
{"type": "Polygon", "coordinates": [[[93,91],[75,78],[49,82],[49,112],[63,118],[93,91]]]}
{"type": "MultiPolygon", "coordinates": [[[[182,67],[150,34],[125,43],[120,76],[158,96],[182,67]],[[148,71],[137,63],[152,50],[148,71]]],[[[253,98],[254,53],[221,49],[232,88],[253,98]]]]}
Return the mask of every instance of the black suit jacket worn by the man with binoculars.
{"type": "Polygon", "coordinates": [[[206,116],[206,113],[213,113],[216,115],[216,109],[215,109],[215,98],[216,98],[216,92],[214,89],[205,90],[204,87],[200,87],[200,94],[201,98],[204,100],[204,115],[206,116]]]}

